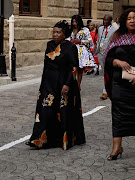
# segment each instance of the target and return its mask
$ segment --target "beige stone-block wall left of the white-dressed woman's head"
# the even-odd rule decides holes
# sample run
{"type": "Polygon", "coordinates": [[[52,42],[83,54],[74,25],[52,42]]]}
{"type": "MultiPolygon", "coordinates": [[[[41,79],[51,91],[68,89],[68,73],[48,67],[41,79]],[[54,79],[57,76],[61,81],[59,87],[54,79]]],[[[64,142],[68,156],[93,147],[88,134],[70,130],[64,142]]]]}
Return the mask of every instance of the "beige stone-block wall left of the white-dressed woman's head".
{"type": "MultiPolygon", "coordinates": [[[[78,0],[41,0],[41,17],[19,16],[19,0],[13,0],[15,14],[15,47],[17,67],[41,64],[46,44],[56,22],[78,14],[78,0]]],[[[9,30],[5,21],[4,49],[9,66],[9,30]]]]}

